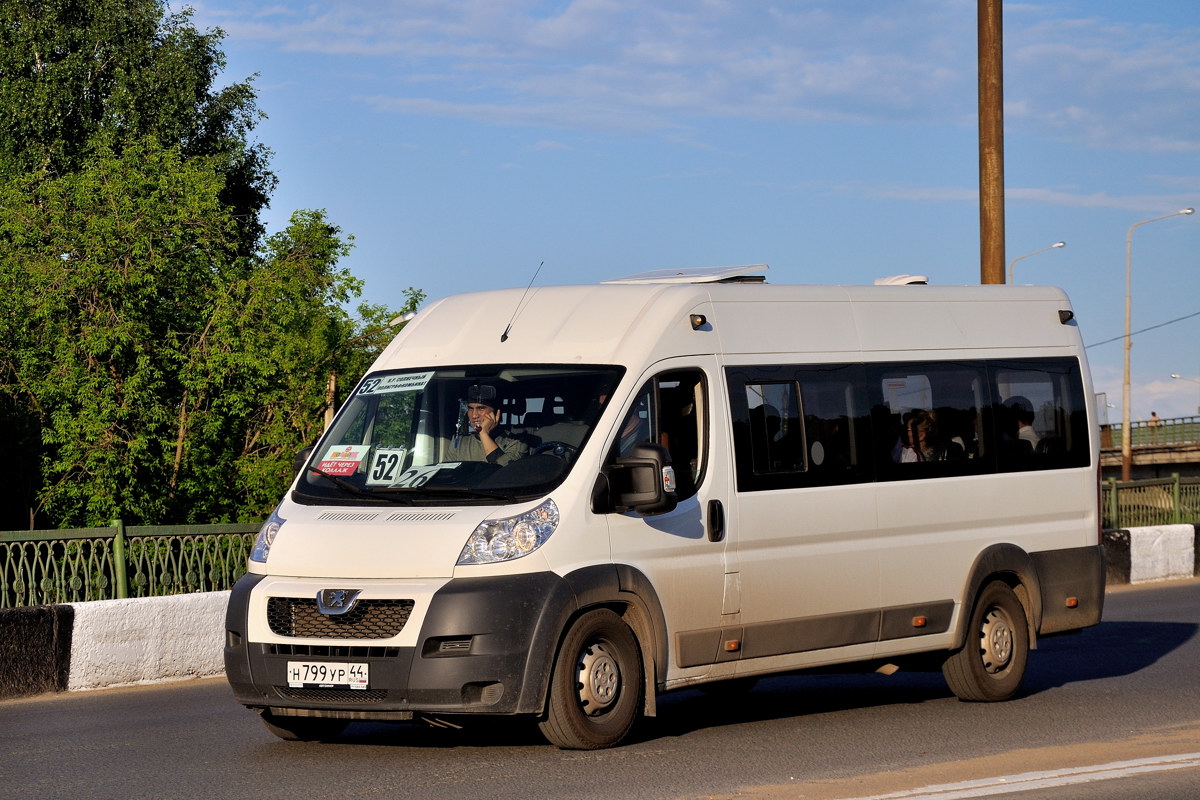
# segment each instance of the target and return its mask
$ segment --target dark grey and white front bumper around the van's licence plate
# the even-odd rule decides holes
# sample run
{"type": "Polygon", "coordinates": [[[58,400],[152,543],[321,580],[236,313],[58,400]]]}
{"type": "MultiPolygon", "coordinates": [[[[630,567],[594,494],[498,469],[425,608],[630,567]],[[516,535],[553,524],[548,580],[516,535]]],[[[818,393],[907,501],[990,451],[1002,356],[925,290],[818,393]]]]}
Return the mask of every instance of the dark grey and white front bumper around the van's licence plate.
{"type": "MultiPolygon", "coordinates": [[[[296,637],[278,619],[263,634],[264,620],[256,619],[270,601],[263,581],[247,575],[230,594],[226,675],[238,702],[280,715],[407,720],[415,712],[540,714],[559,632],[576,607],[568,583],[550,572],[460,578],[416,601],[415,636],[409,630],[378,638],[376,631],[371,636],[377,638],[355,638],[352,622],[343,625],[344,632],[314,636],[310,627],[296,637]],[[289,686],[289,661],[366,663],[370,684],[361,690],[289,686]]],[[[298,606],[324,588],[306,583],[308,596],[292,599],[298,606]]],[[[289,594],[298,594],[292,582],[289,594]]],[[[403,582],[390,590],[403,600],[403,582]]]]}

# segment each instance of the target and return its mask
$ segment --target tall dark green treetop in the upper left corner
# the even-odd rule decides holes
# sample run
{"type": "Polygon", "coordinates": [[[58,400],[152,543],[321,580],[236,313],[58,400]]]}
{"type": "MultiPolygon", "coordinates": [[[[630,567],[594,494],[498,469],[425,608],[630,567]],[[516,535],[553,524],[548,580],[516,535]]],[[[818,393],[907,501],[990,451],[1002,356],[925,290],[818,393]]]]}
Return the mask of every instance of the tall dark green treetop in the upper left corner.
{"type": "Polygon", "coordinates": [[[0,174],[68,175],[145,137],[215,158],[253,247],[275,188],[250,80],[216,88],[223,32],[160,0],[0,2],[0,174]]]}

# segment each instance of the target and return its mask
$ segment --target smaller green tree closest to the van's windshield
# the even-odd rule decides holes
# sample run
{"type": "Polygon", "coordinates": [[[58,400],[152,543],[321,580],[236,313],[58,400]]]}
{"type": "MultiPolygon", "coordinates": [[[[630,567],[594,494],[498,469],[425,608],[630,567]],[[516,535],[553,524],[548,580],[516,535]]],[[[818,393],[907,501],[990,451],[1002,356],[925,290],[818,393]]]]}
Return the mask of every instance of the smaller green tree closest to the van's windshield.
{"type": "Polygon", "coordinates": [[[211,305],[182,373],[170,479],[197,521],[229,518],[236,509],[265,516],[292,477],[296,451],[323,431],[328,374],[356,380],[394,332],[388,321],[424,300],[409,289],[400,312],[361,303],[352,317],[346,305],[361,282],[334,266],[349,246],[324,213],[298,211],[265,241],[260,269],[211,305]],[[222,482],[236,506],[208,491],[222,482]]]}

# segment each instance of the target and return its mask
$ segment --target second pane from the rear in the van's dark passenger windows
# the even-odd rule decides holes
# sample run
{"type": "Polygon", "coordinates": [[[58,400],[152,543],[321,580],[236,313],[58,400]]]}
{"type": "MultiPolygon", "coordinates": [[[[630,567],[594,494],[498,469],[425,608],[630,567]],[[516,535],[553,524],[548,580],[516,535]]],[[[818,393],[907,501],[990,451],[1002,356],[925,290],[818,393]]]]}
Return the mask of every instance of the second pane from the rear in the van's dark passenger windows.
{"type": "Polygon", "coordinates": [[[982,363],[870,365],[880,480],[912,480],[989,471],[983,435],[989,407],[982,363]]]}

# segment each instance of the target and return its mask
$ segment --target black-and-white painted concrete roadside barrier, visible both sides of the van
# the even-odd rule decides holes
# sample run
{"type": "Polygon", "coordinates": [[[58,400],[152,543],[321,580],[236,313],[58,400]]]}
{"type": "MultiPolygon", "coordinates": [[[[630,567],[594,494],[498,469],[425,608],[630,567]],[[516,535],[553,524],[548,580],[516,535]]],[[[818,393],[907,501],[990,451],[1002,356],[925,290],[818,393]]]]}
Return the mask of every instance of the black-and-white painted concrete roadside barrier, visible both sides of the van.
{"type": "MultiPolygon", "coordinates": [[[[1200,575],[1198,527],[1104,533],[1109,584],[1200,575]]],[[[0,609],[0,698],[224,672],[228,591],[0,609]]]]}

